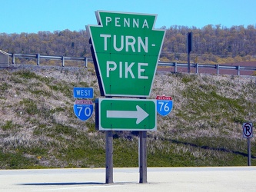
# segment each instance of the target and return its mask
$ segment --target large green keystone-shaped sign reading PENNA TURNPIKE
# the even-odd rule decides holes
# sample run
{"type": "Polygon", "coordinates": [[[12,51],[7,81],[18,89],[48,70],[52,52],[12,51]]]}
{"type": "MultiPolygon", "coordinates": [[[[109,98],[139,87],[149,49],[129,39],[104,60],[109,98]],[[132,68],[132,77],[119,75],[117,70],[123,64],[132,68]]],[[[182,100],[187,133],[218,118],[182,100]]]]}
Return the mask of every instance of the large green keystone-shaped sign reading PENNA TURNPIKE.
{"type": "Polygon", "coordinates": [[[88,25],[101,95],[149,97],[165,30],[154,29],[157,15],[96,12],[88,25]]]}

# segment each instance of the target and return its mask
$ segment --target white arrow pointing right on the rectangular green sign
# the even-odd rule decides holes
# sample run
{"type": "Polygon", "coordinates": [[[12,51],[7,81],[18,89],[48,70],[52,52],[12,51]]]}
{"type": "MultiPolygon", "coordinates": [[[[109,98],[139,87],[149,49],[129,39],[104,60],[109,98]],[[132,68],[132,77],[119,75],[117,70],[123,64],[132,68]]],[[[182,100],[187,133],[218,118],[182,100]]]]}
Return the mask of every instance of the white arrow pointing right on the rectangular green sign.
{"type": "Polygon", "coordinates": [[[137,111],[107,111],[107,118],[137,118],[136,124],[139,124],[148,117],[148,113],[136,105],[137,111]]]}

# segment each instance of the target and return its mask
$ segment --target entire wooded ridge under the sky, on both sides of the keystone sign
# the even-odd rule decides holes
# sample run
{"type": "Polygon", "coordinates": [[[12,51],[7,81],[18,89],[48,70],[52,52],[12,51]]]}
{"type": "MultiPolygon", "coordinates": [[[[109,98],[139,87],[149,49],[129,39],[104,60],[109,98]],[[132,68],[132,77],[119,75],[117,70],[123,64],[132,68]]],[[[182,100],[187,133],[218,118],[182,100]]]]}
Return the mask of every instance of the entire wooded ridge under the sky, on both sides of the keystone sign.
{"type": "MultiPolygon", "coordinates": [[[[254,25],[206,25],[188,28],[173,25],[166,29],[161,61],[187,61],[187,34],[193,32],[191,61],[225,63],[256,61],[256,28],[254,25]]],[[[0,33],[0,49],[8,53],[91,57],[85,30],[38,31],[38,33],[0,33]]]]}

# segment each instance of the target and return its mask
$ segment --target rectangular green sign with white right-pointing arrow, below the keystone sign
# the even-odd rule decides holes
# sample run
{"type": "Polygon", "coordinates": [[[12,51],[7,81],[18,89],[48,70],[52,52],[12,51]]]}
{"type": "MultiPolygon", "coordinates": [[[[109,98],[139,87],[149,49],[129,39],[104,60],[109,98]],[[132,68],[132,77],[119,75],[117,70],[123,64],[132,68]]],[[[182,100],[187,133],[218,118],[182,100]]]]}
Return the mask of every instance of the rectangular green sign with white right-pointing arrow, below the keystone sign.
{"type": "Polygon", "coordinates": [[[96,127],[100,131],[156,131],[156,100],[98,98],[96,127]]]}

